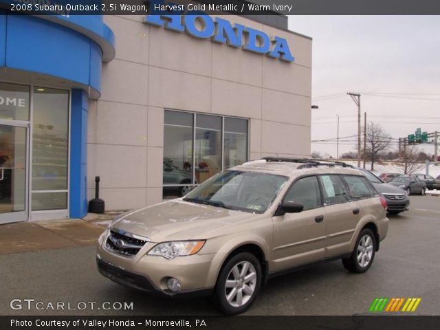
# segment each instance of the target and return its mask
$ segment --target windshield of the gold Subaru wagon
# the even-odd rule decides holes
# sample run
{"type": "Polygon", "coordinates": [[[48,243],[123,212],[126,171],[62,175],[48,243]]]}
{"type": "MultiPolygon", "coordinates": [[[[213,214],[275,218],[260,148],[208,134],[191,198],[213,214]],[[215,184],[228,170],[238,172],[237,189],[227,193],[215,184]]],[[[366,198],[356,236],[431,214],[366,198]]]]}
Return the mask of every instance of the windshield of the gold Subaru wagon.
{"type": "Polygon", "coordinates": [[[226,170],[192,190],[184,201],[263,213],[287,179],[282,175],[226,170]]]}

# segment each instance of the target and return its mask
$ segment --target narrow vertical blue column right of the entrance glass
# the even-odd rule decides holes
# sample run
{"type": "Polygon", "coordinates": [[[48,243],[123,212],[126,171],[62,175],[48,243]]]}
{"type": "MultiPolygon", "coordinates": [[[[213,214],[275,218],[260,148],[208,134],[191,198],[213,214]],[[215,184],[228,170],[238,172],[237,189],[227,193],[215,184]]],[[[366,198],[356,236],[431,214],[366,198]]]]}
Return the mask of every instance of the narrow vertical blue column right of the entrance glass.
{"type": "Polygon", "coordinates": [[[69,187],[71,218],[82,218],[87,214],[87,115],[87,93],[83,89],[72,89],[69,187]]]}

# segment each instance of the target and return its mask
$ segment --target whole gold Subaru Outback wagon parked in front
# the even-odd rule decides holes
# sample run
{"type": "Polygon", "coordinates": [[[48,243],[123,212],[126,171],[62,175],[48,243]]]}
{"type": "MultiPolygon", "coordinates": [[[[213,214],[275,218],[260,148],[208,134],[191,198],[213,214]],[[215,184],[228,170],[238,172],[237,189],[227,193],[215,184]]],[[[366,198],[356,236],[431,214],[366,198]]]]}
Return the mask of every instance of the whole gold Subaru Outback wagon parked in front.
{"type": "Polygon", "coordinates": [[[386,207],[360,170],[265,157],[122,214],[100,236],[98,270],[146,292],[211,294],[223,313],[239,314],[276,274],[335,259],[369,270],[386,207]]]}

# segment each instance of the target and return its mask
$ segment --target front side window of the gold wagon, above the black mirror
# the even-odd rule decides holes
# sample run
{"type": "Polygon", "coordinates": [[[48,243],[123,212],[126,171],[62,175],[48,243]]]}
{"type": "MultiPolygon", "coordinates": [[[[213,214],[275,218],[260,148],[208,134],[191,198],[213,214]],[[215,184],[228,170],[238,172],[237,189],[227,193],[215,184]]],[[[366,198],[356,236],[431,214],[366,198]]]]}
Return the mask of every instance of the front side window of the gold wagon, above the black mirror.
{"type": "Polygon", "coordinates": [[[284,197],[285,201],[303,203],[304,210],[321,206],[321,195],[316,177],[303,177],[295,182],[284,197]]]}

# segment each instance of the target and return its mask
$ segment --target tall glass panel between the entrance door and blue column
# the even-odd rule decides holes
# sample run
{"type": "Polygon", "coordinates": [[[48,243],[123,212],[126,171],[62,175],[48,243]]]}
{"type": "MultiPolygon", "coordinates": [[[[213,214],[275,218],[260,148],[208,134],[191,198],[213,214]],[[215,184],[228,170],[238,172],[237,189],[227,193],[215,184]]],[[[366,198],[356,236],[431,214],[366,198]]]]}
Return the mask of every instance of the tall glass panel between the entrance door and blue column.
{"type": "Polygon", "coordinates": [[[32,210],[67,208],[69,92],[34,87],[32,210]]]}

